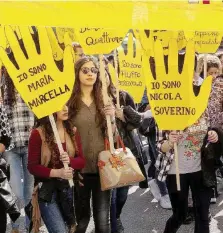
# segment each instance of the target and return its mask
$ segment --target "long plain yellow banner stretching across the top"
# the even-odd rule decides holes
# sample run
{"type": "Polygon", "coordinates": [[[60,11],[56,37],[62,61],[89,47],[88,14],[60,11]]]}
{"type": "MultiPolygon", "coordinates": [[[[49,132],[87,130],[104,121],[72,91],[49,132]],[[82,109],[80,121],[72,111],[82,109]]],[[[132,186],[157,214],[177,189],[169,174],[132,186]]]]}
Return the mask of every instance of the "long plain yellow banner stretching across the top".
{"type": "Polygon", "coordinates": [[[223,25],[213,22],[222,18],[222,0],[211,0],[211,4],[188,0],[0,2],[0,22],[11,25],[221,31],[223,25]]]}

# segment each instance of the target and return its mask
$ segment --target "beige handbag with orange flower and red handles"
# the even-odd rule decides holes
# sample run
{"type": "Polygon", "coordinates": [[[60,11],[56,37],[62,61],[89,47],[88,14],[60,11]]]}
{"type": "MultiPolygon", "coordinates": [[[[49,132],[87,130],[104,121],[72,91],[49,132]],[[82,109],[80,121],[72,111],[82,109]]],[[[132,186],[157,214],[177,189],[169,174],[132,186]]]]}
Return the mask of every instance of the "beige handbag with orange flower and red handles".
{"type": "Polygon", "coordinates": [[[145,180],[135,156],[129,148],[124,146],[120,136],[117,142],[121,144],[122,148],[111,153],[108,149],[109,142],[106,139],[105,151],[99,154],[98,167],[102,191],[145,180]]]}

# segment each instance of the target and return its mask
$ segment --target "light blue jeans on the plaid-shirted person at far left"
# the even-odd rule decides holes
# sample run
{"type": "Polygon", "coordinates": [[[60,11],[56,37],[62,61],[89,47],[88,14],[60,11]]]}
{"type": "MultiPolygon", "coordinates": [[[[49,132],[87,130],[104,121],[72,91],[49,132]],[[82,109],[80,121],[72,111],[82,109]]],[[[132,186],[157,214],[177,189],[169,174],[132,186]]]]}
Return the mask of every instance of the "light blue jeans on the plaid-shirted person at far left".
{"type": "MultiPolygon", "coordinates": [[[[3,156],[10,165],[10,185],[17,197],[17,205],[19,209],[22,209],[29,204],[34,185],[33,176],[27,169],[28,147],[13,148],[10,151],[4,152],[3,156]]],[[[20,221],[20,219],[17,219],[15,223],[12,223],[12,228],[18,229],[20,221]]],[[[26,228],[29,227],[29,223],[29,219],[26,216],[26,228]]]]}

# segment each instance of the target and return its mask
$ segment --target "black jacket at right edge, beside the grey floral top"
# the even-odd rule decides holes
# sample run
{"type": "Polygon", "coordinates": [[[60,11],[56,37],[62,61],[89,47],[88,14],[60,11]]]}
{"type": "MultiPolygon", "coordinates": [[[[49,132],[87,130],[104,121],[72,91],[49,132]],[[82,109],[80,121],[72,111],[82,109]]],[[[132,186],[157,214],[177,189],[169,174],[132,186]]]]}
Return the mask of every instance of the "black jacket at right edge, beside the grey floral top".
{"type": "Polygon", "coordinates": [[[217,132],[218,142],[208,143],[208,135],[206,135],[201,148],[201,170],[206,187],[214,187],[217,184],[215,171],[221,164],[220,158],[223,155],[223,131],[219,128],[212,130],[217,132]]]}

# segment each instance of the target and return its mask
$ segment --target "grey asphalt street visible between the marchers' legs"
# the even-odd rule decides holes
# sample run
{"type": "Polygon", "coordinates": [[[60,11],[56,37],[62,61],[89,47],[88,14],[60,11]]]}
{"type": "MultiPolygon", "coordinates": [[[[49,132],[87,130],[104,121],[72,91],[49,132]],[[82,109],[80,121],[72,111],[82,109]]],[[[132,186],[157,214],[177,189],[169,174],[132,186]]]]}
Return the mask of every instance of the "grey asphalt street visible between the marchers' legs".
{"type": "MultiPolygon", "coordinates": [[[[223,191],[223,185],[221,191],[223,191]]],[[[218,203],[211,208],[214,217],[211,222],[211,233],[223,232],[223,194],[219,197],[218,203]]],[[[142,190],[138,186],[133,186],[129,190],[128,202],[122,215],[125,233],[162,233],[170,215],[171,211],[163,210],[153,200],[149,189],[142,190]]],[[[10,230],[7,231],[9,232],[10,230]]],[[[41,233],[47,233],[47,231],[43,228],[41,233]]],[[[92,222],[87,233],[94,233],[92,222]]],[[[193,233],[193,225],[182,226],[179,233],[193,233]]]]}

